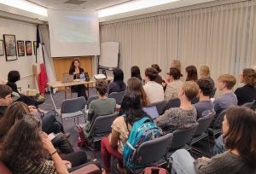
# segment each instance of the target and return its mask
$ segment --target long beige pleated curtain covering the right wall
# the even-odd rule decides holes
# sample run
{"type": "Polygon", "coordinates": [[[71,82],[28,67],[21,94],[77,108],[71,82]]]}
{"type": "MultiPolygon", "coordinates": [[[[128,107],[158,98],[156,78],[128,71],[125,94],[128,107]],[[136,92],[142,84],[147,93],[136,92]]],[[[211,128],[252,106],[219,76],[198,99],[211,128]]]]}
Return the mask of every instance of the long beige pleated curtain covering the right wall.
{"type": "Polygon", "coordinates": [[[175,12],[102,23],[101,42],[120,43],[119,67],[125,80],[131,77],[131,66],[144,69],[157,63],[166,76],[171,61],[178,59],[184,68],[207,65],[212,78],[230,73],[238,77],[245,67],[256,65],[256,3],[206,5],[201,9],[175,12]]]}

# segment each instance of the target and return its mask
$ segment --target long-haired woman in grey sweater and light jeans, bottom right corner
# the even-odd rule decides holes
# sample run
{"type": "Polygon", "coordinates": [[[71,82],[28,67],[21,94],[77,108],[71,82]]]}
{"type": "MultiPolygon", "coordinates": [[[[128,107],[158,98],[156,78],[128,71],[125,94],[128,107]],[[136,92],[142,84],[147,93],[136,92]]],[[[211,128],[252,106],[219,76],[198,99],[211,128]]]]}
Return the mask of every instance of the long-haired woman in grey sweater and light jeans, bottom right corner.
{"type": "Polygon", "coordinates": [[[177,150],[172,154],[172,173],[256,173],[255,125],[253,110],[229,108],[222,125],[227,151],[211,159],[193,159],[188,151],[177,150]]]}

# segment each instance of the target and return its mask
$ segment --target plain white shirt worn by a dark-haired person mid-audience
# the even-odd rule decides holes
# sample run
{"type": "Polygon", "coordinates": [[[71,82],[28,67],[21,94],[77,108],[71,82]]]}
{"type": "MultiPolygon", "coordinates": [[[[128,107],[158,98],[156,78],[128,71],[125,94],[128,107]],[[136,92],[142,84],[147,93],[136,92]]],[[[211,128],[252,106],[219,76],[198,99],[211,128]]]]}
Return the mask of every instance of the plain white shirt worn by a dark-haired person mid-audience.
{"type": "Polygon", "coordinates": [[[148,96],[150,103],[164,100],[165,94],[162,85],[157,84],[154,81],[148,81],[147,84],[143,86],[143,88],[148,96]]]}

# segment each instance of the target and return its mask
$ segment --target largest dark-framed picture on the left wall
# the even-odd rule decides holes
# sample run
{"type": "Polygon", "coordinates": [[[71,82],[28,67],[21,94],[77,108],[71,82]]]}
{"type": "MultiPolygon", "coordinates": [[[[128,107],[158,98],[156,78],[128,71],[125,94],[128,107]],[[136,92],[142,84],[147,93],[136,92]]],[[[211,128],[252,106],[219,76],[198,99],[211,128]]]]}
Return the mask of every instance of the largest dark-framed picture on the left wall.
{"type": "Polygon", "coordinates": [[[3,34],[6,61],[17,60],[15,35],[3,34]]]}

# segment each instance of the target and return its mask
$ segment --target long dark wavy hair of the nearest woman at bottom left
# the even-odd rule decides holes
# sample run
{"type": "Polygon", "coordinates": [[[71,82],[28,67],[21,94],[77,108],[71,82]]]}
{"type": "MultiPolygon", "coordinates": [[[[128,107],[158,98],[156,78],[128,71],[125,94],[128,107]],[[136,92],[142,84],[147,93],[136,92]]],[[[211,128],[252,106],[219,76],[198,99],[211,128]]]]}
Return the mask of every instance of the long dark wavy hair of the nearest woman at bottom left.
{"type": "Polygon", "coordinates": [[[1,160],[9,169],[26,165],[28,160],[41,163],[44,159],[43,142],[40,137],[41,122],[31,115],[24,115],[11,127],[3,141],[1,160]]]}

